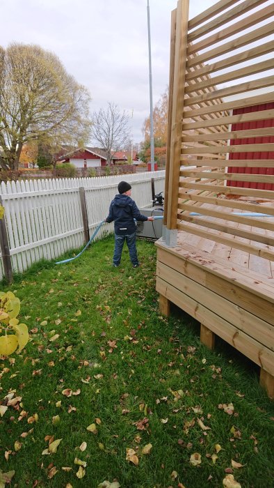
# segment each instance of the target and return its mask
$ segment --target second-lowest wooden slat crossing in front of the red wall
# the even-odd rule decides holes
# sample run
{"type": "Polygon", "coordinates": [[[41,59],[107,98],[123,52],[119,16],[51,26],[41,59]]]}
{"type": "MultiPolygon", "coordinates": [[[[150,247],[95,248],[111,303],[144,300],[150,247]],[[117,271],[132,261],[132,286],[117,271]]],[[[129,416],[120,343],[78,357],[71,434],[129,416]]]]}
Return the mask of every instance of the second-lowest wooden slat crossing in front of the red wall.
{"type": "Polygon", "coordinates": [[[216,166],[216,167],[225,167],[227,165],[231,167],[243,167],[243,168],[273,168],[274,167],[274,160],[272,159],[255,159],[255,160],[243,160],[243,159],[235,159],[235,160],[212,160],[212,159],[186,159],[185,156],[182,156],[181,161],[184,162],[185,166],[216,166]]]}

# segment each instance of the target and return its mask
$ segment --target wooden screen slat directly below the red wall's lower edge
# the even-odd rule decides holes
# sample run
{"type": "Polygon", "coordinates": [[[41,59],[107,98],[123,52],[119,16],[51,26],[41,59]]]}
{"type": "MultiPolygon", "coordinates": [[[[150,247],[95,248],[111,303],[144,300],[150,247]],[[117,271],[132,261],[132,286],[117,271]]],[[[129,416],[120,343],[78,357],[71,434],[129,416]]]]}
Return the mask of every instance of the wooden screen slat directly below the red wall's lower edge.
{"type": "MultiPolygon", "coordinates": [[[[204,183],[188,183],[188,181],[180,181],[180,188],[190,188],[191,190],[211,191],[214,193],[225,193],[226,195],[240,195],[243,197],[268,198],[274,199],[274,191],[271,190],[257,190],[257,188],[241,188],[239,186],[223,186],[223,185],[204,185],[204,183]]],[[[180,193],[179,193],[180,195],[180,193]]]]}

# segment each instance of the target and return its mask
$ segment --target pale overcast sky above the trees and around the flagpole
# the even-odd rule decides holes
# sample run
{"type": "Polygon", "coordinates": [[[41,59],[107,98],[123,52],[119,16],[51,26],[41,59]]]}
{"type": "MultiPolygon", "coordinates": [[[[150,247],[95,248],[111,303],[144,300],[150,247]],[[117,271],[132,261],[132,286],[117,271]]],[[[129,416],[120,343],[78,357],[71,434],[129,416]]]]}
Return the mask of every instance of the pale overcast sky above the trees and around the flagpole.
{"type": "MultiPolygon", "coordinates": [[[[191,0],[194,17],[214,0],[191,0]]],[[[177,0],[150,0],[154,105],[168,85],[170,14],[177,0]]],[[[38,44],[54,52],[92,97],[132,115],[134,142],[150,114],[147,0],[0,0],[0,45],[38,44]]]]}

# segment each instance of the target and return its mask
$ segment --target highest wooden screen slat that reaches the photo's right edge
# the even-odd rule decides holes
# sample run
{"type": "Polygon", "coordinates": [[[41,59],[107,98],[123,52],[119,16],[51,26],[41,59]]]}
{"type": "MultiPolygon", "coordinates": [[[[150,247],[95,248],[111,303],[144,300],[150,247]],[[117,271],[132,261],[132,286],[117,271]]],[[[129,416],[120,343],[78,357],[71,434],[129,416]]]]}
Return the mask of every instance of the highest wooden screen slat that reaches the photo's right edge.
{"type": "Polygon", "coordinates": [[[245,29],[255,26],[262,22],[263,20],[268,20],[273,16],[273,5],[268,5],[257,12],[246,15],[239,22],[233,22],[232,25],[227,27],[223,26],[223,29],[213,33],[212,36],[207,36],[206,38],[200,40],[198,43],[190,43],[188,45],[187,55],[190,56],[193,52],[201,51],[207,47],[212,47],[215,43],[220,43],[222,40],[227,40],[229,36],[233,36],[237,33],[242,33],[245,29]]]}

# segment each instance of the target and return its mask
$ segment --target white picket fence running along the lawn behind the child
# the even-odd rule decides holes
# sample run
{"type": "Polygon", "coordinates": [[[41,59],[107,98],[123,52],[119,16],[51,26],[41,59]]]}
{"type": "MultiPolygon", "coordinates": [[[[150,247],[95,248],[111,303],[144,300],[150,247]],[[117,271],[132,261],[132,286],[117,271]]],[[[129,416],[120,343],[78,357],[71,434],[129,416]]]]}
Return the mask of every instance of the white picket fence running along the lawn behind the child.
{"type": "MultiPolygon", "coordinates": [[[[119,181],[129,181],[132,198],[143,208],[151,204],[152,178],[155,193],[163,191],[165,171],[1,183],[13,273],[22,273],[40,259],[56,259],[67,250],[84,245],[79,188],[85,190],[91,235],[108,215],[119,181]]],[[[113,231],[113,224],[104,224],[97,238],[110,231],[113,231]]],[[[0,280],[4,275],[1,258],[0,253],[0,280]]]]}

